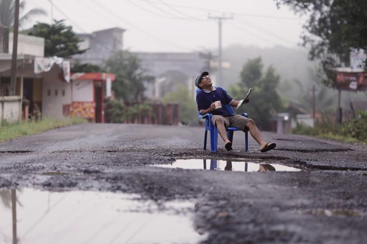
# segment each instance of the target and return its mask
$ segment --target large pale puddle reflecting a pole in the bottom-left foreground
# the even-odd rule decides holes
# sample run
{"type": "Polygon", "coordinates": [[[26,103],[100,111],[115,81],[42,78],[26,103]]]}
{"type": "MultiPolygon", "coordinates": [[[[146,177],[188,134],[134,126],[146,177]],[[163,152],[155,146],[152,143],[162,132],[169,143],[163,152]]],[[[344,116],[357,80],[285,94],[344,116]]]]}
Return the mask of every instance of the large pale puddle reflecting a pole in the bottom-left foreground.
{"type": "Polygon", "coordinates": [[[0,190],[1,243],[198,243],[194,203],[109,192],[0,190]],[[13,242],[13,240],[17,240],[13,242]]]}

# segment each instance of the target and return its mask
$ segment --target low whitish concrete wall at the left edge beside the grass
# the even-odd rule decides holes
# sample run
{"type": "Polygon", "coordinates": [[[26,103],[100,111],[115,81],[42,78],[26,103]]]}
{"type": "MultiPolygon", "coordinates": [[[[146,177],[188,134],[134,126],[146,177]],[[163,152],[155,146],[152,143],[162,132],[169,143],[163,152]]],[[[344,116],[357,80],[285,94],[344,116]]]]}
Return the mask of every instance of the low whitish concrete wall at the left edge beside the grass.
{"type": "Polygon", "coordinates": [[[19,96],[0,97],[0,121],[16,122],[20,120],[22,100],[19,96]]]}

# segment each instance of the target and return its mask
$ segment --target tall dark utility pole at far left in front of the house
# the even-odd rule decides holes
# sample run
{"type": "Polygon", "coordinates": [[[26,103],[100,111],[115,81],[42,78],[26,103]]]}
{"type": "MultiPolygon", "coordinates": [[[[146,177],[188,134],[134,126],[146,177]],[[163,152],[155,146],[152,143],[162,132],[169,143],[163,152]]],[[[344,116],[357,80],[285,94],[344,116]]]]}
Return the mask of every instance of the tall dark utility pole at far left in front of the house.
{"type": "Polygon", "coordinates": [[[19,26],[19,0],[15,0],[13,54],[11,58],[11,71],[10,71],[10,95],[12,96],[15,95],[15,87],[17,82],[18,26],[19,26]]]}

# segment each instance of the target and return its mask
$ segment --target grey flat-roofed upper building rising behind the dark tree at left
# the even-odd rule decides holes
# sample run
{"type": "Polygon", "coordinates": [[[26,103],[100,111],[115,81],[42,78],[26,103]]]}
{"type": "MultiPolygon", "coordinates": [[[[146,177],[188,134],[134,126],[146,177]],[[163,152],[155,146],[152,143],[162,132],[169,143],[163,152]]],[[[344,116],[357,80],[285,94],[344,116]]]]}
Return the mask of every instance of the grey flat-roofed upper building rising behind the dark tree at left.
{"type": "Polygon", "coordinates": [[[122,50],[124,32],[125,29],[116,27],[94,31],[92,34],[77,34],[83,40],[79,49],[88,49],[88,51],[73,55],[72,58],[80,63],[101,65],[116,52],[122,50]]]}

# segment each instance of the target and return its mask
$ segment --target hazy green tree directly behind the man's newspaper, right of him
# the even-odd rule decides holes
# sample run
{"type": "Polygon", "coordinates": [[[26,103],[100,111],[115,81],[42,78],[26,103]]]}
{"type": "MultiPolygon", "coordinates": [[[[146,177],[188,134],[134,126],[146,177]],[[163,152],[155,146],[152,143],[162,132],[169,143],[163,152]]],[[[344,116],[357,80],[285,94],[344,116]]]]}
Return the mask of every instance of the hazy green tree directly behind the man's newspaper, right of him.
{"type": "Polygon", "coordinates": [[[280,76],[272,66],[263,73],[263,64],[259,57],[245,63],[240,77],[241,81],[232,86],[229,93],[235,100],[241,100],[252,87],[250,102],[242,105],[238,112],[248,113],[260,128],[264,128],[282,109],[280,97],[276,92],[280,76]]]}

